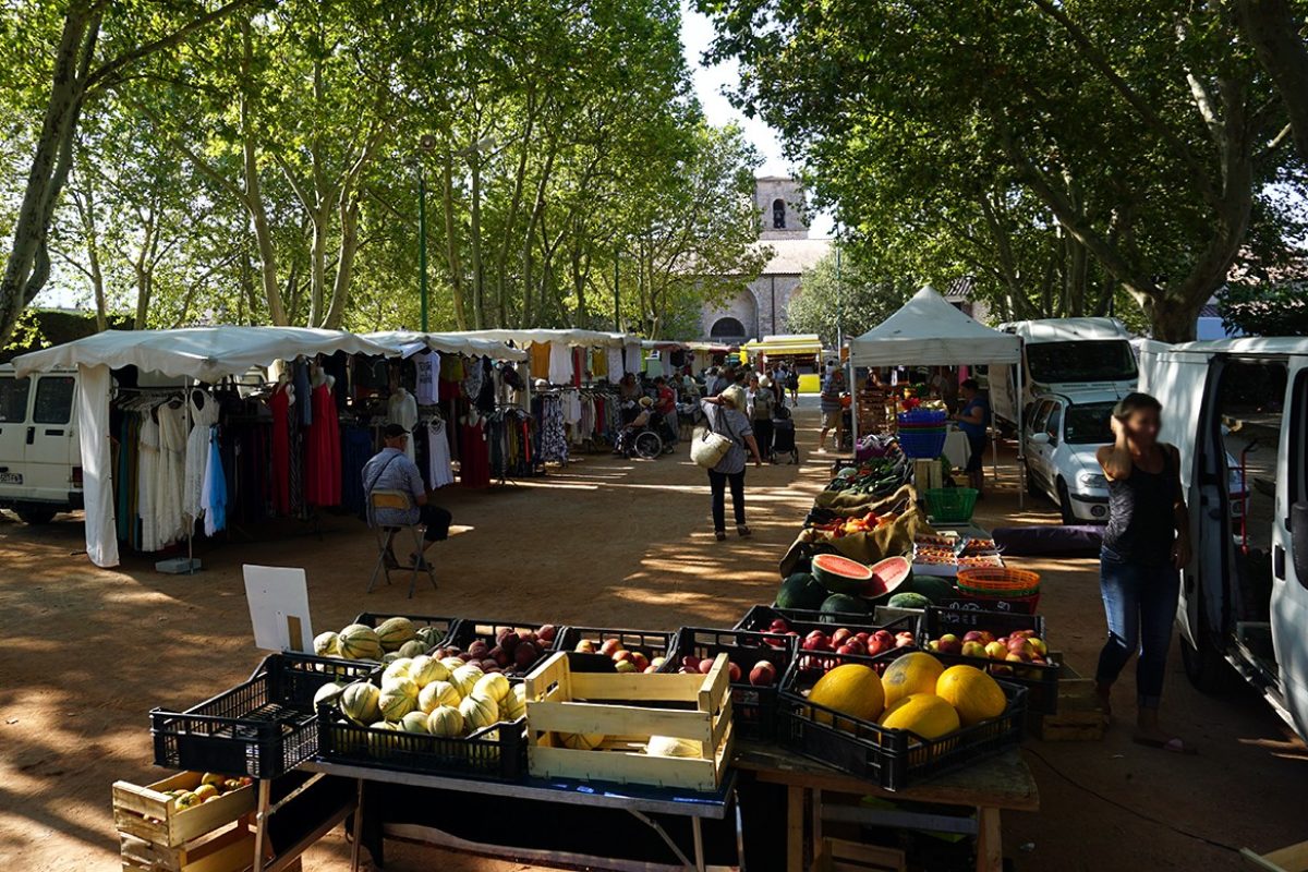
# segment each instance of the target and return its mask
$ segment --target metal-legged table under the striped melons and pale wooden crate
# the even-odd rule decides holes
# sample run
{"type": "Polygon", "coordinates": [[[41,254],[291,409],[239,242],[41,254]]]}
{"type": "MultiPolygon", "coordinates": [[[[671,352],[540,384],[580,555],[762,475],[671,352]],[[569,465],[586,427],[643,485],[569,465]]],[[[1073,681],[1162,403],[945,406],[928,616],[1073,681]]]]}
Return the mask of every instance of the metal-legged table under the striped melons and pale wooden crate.
{"type": "MultiPolygon", "coordinates": [[[[320,760],[303,763],[302,769],[314,773],[351,778],[358,782],[360,805],[354,817],[354,852],[352,855],[351,872],[358,869],[360,841],[368,843],[373,851],[374,860],[382,862],[382,839],[385,837],[403,838],[411,842],[438,845],[467,850],[476,854],[493,854],[510,856],[523,862],[559,863],[569,867],[595,867],[599,868],[641,868],[641,869],[706,869],[704,851],[704,833],[701,829],[705,820],[726,820],[729,814],[735,814],[735,842],[736,860],[743,867],[743,837],[740,830],[739,807],[735,801],[735,774],[729,770],[722,786],[712,794],[700,794],[685,790],[641,787],[637,784],[602,784],[596,782],[578,782],[568,779],[528,778],[522,782],[488,782],[470,778],[453,778],[443,775],[422,775],[395,770],[374,769],[370,766],[351,766],[331,763],[320,760]],[[647,863],[628,863],[621,860],[600,863],[606,858],[595,858],[577,852],[561,852],[556,850],[540,848],[514,848],[504,842],[468,842],[453,837],[449,833],[411,821],[392,821],[387,811],[392,805],[377,803],[381,808],[374,808],[368,800],[365,782],[400,788],[419,788],[430,797],[437,797],[437,791],[470,795],[468,801],[505,800],[505,801],[536,801],[559,805],[586,807],[591,809],[616,809],[633,816],[636,820],[650,828],[658,838],[667,846],[675,856],[676,863],[668,867],[655,867],[647,863]],[[472,800],[476,796],[477,800],[472,800]],[[374,817],[374,816],[381,816],[374,817]],[[666,814],[688,818],[691,824],[692,850],[688,855],[680,845],[663,829],[663,825],[650,817],[651,814],[666,814]],[[373,835],[369,837],[368,833],[373,835]]],[[[425,801],[422,807],[438,808],[439,803],[425,801]]]]}

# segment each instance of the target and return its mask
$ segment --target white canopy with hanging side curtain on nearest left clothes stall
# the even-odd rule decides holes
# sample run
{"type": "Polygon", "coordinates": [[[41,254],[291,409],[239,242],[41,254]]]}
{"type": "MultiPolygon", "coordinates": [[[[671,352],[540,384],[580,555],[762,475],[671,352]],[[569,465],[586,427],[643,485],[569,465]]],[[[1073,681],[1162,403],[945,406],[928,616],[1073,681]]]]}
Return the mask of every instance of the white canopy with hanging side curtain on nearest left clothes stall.
{"type": "Polygon", "coordinates": [[[105,331],[13,361],[18,378],[77,369],[77,437],[82,461],[86,554],[97,566],[118,566],[112,464],[109,443],[110,370],[136,366],[177,379],[218,382],[251,367],[313,354],[398,352],[353,333],[306,327],[188,327],[105,331]]]}

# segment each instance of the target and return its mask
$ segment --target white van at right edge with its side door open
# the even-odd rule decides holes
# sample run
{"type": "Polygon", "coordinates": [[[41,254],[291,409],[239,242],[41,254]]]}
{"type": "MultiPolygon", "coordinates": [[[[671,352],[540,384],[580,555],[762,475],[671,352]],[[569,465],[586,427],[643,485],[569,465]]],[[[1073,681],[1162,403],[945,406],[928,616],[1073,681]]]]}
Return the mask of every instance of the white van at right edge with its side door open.
{"type": "Polygon", "coordinates": [[[1239,675],[1308,737],[1308,339],[1144,349],[1141,390],[1163,403],[1190,509],[1177,609],[1186,675],[1206,692],[1239,675]],[[1241,456],[1243,518],[1228,472],[1241,456]]]}

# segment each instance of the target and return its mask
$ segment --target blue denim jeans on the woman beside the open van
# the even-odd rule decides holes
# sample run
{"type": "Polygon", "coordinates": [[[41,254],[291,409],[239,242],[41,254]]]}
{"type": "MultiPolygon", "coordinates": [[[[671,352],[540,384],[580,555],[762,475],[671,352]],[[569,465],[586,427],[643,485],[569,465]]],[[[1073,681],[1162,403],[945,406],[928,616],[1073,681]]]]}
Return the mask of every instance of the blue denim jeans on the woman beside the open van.
{"type": "Polygon", "coordinates": [[[1131,654],[1139,650],[1135,663],[1139,706],[1158,709],[1181,590],[1180,573],[1171,563],[1133,562],[1104,548],[1099,557],[1099,590],[1108,618],[1108,642],[1099,652],[1095,680],[1116,681],[1131,654]]]}

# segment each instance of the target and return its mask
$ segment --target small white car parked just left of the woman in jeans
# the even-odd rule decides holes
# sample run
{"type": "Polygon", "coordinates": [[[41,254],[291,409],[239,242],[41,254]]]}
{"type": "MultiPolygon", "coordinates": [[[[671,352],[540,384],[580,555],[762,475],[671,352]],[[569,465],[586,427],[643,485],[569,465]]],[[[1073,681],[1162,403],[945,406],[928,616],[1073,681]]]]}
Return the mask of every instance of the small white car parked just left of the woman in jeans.
{"type": "MultiPolygon", "coordinates": [[[[1108,480],[1095,454],[1113,441],[1109,417],[1116,391],[1042,394],[1024,416],[1027,489],[1054,501],[1065,524],[1108,520],[1108,480]]],[[[1231,512],[1244,509],[1245,485],[1227,455],[1231,512]]]]}

